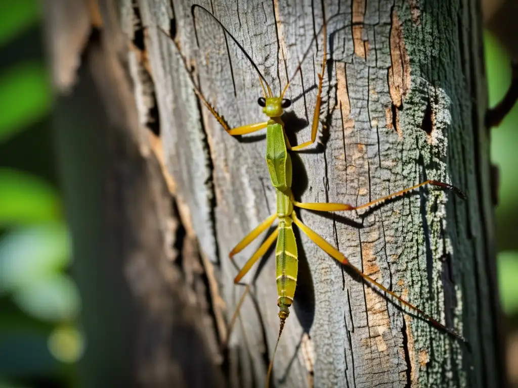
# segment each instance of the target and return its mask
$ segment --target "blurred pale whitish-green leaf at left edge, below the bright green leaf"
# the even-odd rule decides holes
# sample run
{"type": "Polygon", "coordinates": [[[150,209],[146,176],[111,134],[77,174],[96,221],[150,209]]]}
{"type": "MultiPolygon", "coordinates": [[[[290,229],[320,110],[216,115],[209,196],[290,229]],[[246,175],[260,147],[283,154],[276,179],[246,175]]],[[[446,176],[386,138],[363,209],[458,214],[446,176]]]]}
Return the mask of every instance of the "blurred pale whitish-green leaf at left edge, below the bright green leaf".
{"type": "Polygon", "coordinates": [[[61,223],[8,232],[0,240],[0,294],[47,279],[69,262],[68,232],[61,223]]]}

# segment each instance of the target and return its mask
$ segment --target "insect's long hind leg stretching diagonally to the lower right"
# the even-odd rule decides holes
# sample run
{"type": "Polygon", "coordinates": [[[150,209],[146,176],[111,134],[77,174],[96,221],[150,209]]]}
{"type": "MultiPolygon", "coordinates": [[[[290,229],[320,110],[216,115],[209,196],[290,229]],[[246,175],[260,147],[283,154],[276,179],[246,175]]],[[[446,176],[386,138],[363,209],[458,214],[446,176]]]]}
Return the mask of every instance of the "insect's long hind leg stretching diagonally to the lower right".
{"type": "Polygon", "coordinates": [[[319,247],[321,247],[329,256],[331,256],[333,259],[339,261],[340,263],[347,265],[355,274],[362,277],[365,281],[371,283],[372,285],[375,285],[377,288],[385,292],[386,294],[391,295],[394,299],[399,301],[401,304],[405,305],[409,309],[418,312],[419,315],[421,315],[423,318],[428,320],[431,324],[438,327],[441,330],[444,330],[445,332],[453,335],[456,338],[459,338],[466,342],[463,336],[459,335],[452,329],[448,329],[448,327],[444,326],[443,324],[436,321],[434,318],[426,314],[423,310],[419,309],[418,307],[415,307],[414,305],[410,304],[409,302],[401,299],[400,296],[398,296],[396,293],[390,291],[380,283],[378,283],[376,280],[372,279],[370,276],[365,275],[362,271],[358,270],[354,265],[352,265],[349,260],[347,260],[347,257],[343,255],[338,249],[333,247],[331,244],[329,244],[327,241],[324,240],[319,234],[312,231],[310,228],[308,228],[302,221],[300,221],[297,218],[297,215],[295,212],[292,213],[292,218],[295,224],[319,247]]]}

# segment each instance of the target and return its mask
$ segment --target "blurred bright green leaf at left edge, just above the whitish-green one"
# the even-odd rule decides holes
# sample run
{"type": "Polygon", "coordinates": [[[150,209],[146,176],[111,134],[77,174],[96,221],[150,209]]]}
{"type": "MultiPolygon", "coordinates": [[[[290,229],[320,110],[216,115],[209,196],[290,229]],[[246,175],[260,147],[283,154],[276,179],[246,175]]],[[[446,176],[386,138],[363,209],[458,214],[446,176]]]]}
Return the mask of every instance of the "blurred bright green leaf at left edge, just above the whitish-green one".
{"type": "Polygon", "coordinates": [[[60,199],[55,190],[39,178],[0,168],[0,227],[57,221],[60,199]]]}

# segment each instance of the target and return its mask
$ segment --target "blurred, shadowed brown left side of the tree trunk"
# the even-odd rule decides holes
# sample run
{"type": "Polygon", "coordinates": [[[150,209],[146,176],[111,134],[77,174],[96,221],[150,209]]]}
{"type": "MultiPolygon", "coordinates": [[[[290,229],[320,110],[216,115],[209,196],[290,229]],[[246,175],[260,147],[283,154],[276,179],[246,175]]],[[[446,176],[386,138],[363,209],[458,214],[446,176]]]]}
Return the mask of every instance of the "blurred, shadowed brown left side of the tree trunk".
{"type": "Polygon", "coordinates": [[[208,274],[150,151],[156,139],[138,121],[117,4],[91,12],[82,0],[45,5],[71,272],[87,342],[79,382],[222,385],[211,356],[208,274]]]}

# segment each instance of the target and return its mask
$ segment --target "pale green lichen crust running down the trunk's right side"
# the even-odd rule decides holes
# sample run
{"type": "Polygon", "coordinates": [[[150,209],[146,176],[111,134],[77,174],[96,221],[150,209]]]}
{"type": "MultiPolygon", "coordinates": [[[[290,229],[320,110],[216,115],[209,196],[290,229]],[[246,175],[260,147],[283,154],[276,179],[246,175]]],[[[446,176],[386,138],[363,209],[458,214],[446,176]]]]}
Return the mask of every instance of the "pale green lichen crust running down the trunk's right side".
{"type": "MultiPolygon", "coordinates": [[[[448,174],[447,133],[451,125],[451,100],[447,93],[440,87],[431,85],[421,77],[412,77],[412,89],[405,99],[405,109],[401,114],[401,124],[404,128],[404,163],[408,167],[409,178],[412,184],[425,179],[451,183],[448,174]],[[432,130],[428,134],[422,130],[423,118],[427,105],[431,108],[432,130]],[[415,166],[418,166],[417,168],[415,166]]],[[[429,112],[428,112],[429,113],[429,112]]],[[[412,278],[409,281],[410,302],[420,304],[431,316],[444,324],[444,293],[442,287],[442,271],[444,255],[453,256],[453,244],[450,241],[447,225],[447,202],[452,194],[435,187],[428,188],[425,198],[425,222],[420,212],[409,215],[411,221],[406,226],[407,236],[412,236],[406,242],[406,250],[418,248],[419,257],[407,263],[412,278]],[[427,227],[427,228],[426,228],[427,227]],[[423,232],[424,230],[424,232],[423,232]],[[425,235],[427,233],[427,236],[425,235]],[[431,258],[426,260],[426,245],[429,242],[431,258]],[[426,268],[431,265],[431,285],[429,285],[426,268]],[[428,291],[433,295],[428,298],[428,291]],[[423,305],[423,300],[433,302],[423,305]]],[[[419,197],[411,199],[412,207],[420,206],[419,197]]],[[[413,207],[415,208],[415,207],[413,207]]],[[[429,254],[429,253],[428,253],[429,254]]],[[[462,317],[462,293],[457,290],[454,314],[454,329],[462,332],[458,325],[462,317]]],[[[453,370],[459,370],[459,362],[462,362],[462,352],[459,345],[451,337],[433,327],[412,321],[412,333],[414,336],[415,353],[427,352],[428,341],[431,337],[434,344],[434,360],[421,365],[417,362],[412,369],[419,371],[419,381],[422,386],[456,386],[458,380],[461,385],[466,384],[466,375],[460,374],[456,379],[453,370]],[[454,360],[454,361],[452,361],[454,360]],[[456,365],[452,365],[455,362],[456,365]],[[447,378],[445,378],[447,376],[447,378]]]]}

